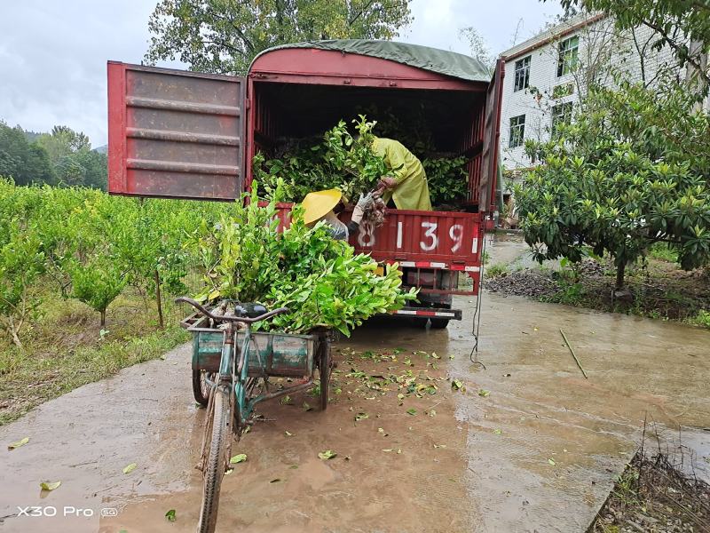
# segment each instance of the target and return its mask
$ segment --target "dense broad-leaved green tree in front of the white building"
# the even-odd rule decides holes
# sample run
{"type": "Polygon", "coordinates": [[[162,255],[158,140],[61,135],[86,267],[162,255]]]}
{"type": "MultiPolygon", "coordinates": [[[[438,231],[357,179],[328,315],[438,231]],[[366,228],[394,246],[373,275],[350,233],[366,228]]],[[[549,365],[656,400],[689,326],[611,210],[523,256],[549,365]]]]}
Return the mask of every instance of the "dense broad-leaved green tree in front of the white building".
{"type": "Polygon", "coordinates": [[[516,198],[536,259],[610,254],[616,289],[629,263],[667,243],[686,270],[710,260],[710,117],[698,95],[664,83],[592,88],[555,140],[528,141],[542,164],[516,198]]]}

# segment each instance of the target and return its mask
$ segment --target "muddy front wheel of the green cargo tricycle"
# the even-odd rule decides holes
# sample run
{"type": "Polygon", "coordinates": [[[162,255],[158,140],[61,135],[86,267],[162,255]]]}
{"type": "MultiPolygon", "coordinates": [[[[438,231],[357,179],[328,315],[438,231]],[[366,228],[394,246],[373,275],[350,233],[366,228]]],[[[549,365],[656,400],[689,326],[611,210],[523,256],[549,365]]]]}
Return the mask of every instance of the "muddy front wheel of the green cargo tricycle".
{"type": "Polygon", "coordinates": [[[212,413],[211,441],[204,450],[207,460],[203,470],[202,506],[200,522],[197,527],[199,533],[214,533],[217,525],[219,489],[229,460],[229,457],[226,456],[229,439],[232,436],[229,394],[228,386],[215,387],[212,399],[214,411],[212,413]]]}

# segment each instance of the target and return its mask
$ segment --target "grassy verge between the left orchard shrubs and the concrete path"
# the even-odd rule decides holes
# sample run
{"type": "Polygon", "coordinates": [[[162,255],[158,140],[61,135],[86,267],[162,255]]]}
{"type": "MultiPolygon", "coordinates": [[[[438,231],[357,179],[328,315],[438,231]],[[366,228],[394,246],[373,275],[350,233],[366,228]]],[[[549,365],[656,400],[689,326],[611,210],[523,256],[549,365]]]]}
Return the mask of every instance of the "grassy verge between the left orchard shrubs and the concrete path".
{"type": "Polygon", "coordinates": [[[0,341],[0,426],[78,386],[160,357],[189,338],[177,326],[180,309],[170,308],[168,327],[160,330],[152,304],[130,290],[109,307],[103,330],[99,314],[76,300],[48,294],[42,309],[22,347],[0,341]]]}

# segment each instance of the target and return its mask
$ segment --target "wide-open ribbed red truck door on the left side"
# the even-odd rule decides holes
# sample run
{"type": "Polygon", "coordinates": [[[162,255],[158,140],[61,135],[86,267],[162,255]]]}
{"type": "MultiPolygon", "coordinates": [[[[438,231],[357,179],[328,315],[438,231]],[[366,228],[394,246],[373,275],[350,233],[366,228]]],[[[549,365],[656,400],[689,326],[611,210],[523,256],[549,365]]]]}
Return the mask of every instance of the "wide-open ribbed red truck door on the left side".
{"type": "Polygon", "coordinates": [[[233,200],[244,183],[246,81],[108,62],[108,192],[233,200]]]}

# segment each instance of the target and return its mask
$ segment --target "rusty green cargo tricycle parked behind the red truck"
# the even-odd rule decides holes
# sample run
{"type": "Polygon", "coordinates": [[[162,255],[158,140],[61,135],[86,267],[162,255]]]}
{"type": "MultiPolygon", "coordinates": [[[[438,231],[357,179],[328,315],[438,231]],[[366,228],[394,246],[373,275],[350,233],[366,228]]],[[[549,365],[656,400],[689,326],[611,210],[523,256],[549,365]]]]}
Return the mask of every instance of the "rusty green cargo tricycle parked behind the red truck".
{"type": "Polygon", "coordinates": [[[177,298],[197,309],[183,327],[193,334],[193,394],[207,407],[207,424],[198,467],[204,476],[198,531],[212,533],[217,523],[219,489],[232,456],[232,437],[239,440],[252,423],[256,403],[311,388],[315,370],[320,381],[320,409],[327,407],[330,337],[252,331],[261,322],[288,309],[230,304],[224,314],[190,298],[177,298]],[[292,378],[294,385],[273,386],[269,378],[292,378]]]}

